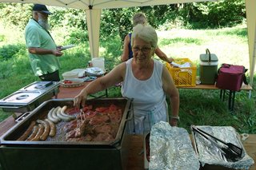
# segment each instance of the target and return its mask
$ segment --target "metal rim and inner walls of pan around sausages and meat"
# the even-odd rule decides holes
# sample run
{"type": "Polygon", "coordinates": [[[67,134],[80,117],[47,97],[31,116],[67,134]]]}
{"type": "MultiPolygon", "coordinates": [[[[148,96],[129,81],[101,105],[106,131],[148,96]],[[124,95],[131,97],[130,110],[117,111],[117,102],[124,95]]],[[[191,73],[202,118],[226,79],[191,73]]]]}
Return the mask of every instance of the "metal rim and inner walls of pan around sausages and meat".
{"type": "Polygon", "coordinates": [[[19,136],[22,135],[23,132],[26,131],[31,121],[36,121],[38,119],[45,119],[46,114],[49,112],[49,109],[57,106],[67,105],[69,108],[73,108],[73,99],[52,99],[49,101],[45,101],[42,105],[39,105],[38,108],[34,109],[31,113],[27,114],[25,118],[22,119],[17,125],[13,128],[10,128],[2,137],[1,144],[5,145],[114,145],[118,143],[122,139],[123,129],[125,127],[126,121],[128,118],[129,108],[130,108],[130,100],[126,98],[101,98],[101,99],[91,99],[86,101],[87,105],[93,105],[94,107],[104,107],[109,106],[110,104],[117,105],[122,109],[122,120],[120,122],[118,133],[114,139],[114,141],[21,141],[17,140],[19,136]]]}

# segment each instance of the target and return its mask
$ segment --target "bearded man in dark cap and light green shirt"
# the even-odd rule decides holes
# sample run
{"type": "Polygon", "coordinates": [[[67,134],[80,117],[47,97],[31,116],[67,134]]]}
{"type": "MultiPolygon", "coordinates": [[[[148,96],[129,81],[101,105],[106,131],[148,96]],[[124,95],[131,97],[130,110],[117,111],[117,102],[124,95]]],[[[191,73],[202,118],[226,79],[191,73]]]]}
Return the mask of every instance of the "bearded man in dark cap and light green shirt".
{"type": "Polygon", "coordinates": [[[25,39],[34,75],[41,81],[60,81],[58,57],[63,53],[49,33],[48,16],[51,13],[42,4],[35,4],[32,13],[26,25],[25,39]]]}

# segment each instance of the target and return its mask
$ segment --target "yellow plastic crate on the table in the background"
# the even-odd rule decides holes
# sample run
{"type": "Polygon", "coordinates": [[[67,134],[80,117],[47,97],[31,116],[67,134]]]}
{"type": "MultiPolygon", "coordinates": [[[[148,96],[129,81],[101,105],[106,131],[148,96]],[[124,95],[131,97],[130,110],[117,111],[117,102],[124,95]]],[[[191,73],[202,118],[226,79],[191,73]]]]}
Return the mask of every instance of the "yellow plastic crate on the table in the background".
{"type": "Polygon", "coordinates": [[[177,58],[174,62],[179,65],[190,62],[192,65],[191,67],[177,68],[166,62],[166,68],[173,77],[174,84],[176,86],[195,86],[197,67],[188,58],[177,58]]]}

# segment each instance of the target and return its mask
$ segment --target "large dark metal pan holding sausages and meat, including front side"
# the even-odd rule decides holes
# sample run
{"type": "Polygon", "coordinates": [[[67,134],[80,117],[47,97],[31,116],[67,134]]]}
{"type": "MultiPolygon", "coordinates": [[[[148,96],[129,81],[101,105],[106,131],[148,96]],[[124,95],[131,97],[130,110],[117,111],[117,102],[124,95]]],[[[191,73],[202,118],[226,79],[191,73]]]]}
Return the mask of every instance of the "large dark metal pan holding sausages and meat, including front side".
{"type": "Polygon", "coordinates": [[[56,106],[73,107],[73,99],[52,99],[34,109],[22,121],[1,137],[0,161],[3,169],[125,169],[130,136],[126,121],[130,118],[130,100],[99,98],[86,101],[87,105],[104,107],[110,104],[122,109],[118,133],[111,142],[88,141],[17,141],[31,121],[46,117],[56,106]],[[11,159],[10,159],[11,158],[11,159]]]}

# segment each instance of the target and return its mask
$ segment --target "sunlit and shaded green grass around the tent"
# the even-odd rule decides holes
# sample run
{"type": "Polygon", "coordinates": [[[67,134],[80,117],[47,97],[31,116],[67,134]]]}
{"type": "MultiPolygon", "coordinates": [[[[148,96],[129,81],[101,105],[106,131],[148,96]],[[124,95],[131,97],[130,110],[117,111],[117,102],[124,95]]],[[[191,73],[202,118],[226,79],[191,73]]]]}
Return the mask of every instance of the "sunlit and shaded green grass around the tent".
{"type": "MultiPolygon", "coordinates": [[[[66,37],[68,37],[66,33],[68,31],[53,31],[53,37],[58,45],[66,43],[66,37]]],[[[167,56],[174,58],[188,57],[197,65],[200,62],[199,55],[206,53],[205,50],[208,48],[211,53],[217,55],[219,65],[226,62],[245,65],[249,69],[246,35],[246,26],[218,30],[168,30],[158,32],[158,44],[167,56]]],[[[109,38],[107,41],[101,41],[100,46],[99,56],[105,57],[106,69],[110,70],[114,65],[120,63],[122,54],[120,38],[115,37],[109,38]]],[[[13,50],[14,54],[12,56],[6,55],[10,59],[0,62],[0,98],[14,93],[31,82],[39,81],[30,69],[22,30],[3,28],[0,24],[0,57],[1,51],[7,53],[7,50],[13,50]]],[[[88,42],[77,42],[75,48],[66,50],[65,54],[60,57],[62,65],[60,72],[86,68],[90,60],[88,42]]],[[[254,76],[254,89],[256,88],[255,84],[256,77],[254,76]]],[[[180,127],[189,130],[190,125],[230,125],[236,128],[238,132],[256,133],[255,90],[252,91],[251,99],[248,98],[248,93],[244,91],[236,93],[234,113],[230,113],[227,109],[227,101],[222,102],[219,99],[218,90],[179,89],[179,93],[180,127]]],[[[110,97],[121,96],[120,89],[116,87],[110,88],[109,94],[110,97]]],[[[11,114],[0,111],[0,121],[11,114]]]]}

